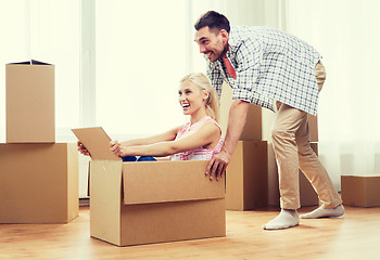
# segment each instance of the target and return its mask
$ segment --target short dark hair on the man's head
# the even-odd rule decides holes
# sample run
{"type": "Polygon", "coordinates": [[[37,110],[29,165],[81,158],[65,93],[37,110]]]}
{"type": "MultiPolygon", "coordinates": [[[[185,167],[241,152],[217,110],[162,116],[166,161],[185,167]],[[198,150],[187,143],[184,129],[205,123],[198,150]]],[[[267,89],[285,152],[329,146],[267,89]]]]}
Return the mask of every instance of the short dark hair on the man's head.
{"type": "Polygon", "coordinates": [[[230,29],[228,18],[225,15],[219,14],[215,11],[206,12],[194,24],[195,30],[200,30],[206,26],[208,26],[210,29],[217,29],[218,32],[221,29],[225,29],[229,34],[230,29]]]}

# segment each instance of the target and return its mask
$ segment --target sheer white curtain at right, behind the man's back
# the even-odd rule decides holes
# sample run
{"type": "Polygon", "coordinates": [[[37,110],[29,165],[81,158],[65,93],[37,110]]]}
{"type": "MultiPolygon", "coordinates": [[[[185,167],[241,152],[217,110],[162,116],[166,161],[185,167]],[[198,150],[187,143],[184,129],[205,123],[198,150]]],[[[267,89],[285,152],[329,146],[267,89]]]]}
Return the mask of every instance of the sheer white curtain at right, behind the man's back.
{"type": "Polygon", "coordinates": [[[319,157],[340,176],[380,173],[380,1],[289,0],[286,29],[324,56],[319,157]]]}

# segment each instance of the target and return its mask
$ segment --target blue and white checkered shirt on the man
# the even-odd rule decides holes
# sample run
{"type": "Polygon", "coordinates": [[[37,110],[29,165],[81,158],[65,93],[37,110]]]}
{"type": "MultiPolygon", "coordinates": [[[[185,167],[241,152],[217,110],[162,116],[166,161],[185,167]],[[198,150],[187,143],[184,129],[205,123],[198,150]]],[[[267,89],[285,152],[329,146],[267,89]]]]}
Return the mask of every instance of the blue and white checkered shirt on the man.
{"type": "Polygon", "coordinates": [[[227,57],[237,79],[223,61],[208,62],[207,76],[219,98],[226,80],[232,99],[275,110],[280,101],[312,115],[317,114],[318,84],[315,65],[320,54],[306,42],[269,27],[231,26],[227,57]]]}

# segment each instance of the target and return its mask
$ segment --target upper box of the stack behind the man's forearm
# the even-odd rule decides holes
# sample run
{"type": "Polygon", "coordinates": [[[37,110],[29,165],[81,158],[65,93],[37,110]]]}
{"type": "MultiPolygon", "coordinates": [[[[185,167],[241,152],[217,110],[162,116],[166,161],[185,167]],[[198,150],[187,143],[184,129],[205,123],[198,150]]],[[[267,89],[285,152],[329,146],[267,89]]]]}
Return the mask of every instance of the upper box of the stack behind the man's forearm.
{"type": "MultiPolygon", "coordinates": [[[[232,104],[232,89],[229,84],[223,84],[220,96],[220,127],[227,132],[229,108],[232,104]]],[[[242,141],[261,141],[262,140],[262,108],[250,104],[246,115],[246,122],[240,135],[242,141]]]]}

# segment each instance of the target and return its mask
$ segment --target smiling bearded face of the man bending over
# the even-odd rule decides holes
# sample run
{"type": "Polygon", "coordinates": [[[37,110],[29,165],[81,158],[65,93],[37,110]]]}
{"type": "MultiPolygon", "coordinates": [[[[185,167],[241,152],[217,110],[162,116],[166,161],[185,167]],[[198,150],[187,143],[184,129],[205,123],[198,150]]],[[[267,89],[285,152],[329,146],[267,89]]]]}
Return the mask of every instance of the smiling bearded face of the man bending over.
{"type": "Polygon", "coordinates": [[[200,53],[203,53],[213,63],[226,54],[228,32],[225,29],[218,31],[206,26],[195,32],[194,41],[200,47],[200,53]]]}

